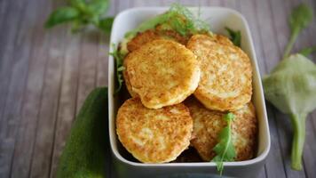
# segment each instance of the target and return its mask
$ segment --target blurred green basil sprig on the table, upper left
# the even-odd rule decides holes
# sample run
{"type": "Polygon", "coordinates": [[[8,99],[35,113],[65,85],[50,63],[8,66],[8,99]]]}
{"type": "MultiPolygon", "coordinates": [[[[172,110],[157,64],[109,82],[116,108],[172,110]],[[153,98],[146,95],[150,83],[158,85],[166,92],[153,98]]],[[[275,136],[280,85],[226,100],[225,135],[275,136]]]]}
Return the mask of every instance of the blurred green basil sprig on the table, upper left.
{"type": "Polygon", "coordinates": [[[106,34],[111,32],[113,18],[103,18],[107,12],[108,0],[69,0],[69,4],[51,12],[44,27],[52,28],[65,22],[72,22],[72,31],[77,32],[88,25],[94,25],[106,34]]]}

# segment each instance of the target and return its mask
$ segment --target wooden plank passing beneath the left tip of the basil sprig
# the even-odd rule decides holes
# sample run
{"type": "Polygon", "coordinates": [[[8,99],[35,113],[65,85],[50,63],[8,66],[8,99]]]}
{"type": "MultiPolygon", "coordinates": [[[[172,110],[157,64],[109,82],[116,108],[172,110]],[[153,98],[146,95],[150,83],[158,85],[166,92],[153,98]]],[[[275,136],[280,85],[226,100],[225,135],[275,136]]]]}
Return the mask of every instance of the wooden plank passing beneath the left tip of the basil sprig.
{"type": "MultiPolygon", "coordinates": [[[[53,7],[47,4],[50,9],[60,6],[60,1],[55,1],[53,7]]],[[[48,12],[43,12],[44,16],[48,12]]],[[[59,104],[60,82],[64,67],[64,50],[67,41],[65,39],[65,26],[45,31],[51,36],[50,48],[46,51],[48,58],[47,69],[44,75],[43,97],[39,108],[34,149],[30,167],[30,177],[49,177],[51,168],[51,152],[57,110],[59,104]],[[52,37],[53,36],[53,37],[52,37]]]]}

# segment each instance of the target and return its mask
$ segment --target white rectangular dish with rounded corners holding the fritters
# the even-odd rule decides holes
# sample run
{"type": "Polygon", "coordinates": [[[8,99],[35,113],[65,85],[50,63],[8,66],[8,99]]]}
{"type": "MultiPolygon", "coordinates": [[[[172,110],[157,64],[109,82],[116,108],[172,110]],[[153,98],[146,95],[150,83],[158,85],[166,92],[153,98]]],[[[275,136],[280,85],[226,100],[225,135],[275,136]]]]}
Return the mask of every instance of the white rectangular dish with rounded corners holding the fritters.
{"type": "MultiPolygon", "coordinates": [[[[148,18],[166,12],[168,7],[138,7],[120,12],[114,21],[110,44],[118,44],[124,34],[148,18]]],[[[198,8],[190,8],[197,13],[198,8]]],[[[257,67],[257,58],[254,44],[250,36],[249,26],[241,13],[223,7],[201,7],[201,19],[207,20],[214,33],[227,35],[225,27],[241,30],[241,48],[249,55],[253,67],[253,97],[258,119],[258,144],[256,158],[225,162],[224,175],[233,177],[254,177],[265,164],[265,158],[270,150],[270,133],[265,110],[265,97],[261,84],[261,77],[257,67]]],[[[110,52],[114,48],[111,45],[110,52]]],[[[109,110],[109,135],[111,150],[113,153],[113,164],[115,166],[115,177],[211,177],[217,175],[216,164],[213,162],[199,163],[165,163],[144,164],[130,158],[126,150],[122,149],[115,132],[116,112],[122,100],[115,95],[115,60],[109,56],[108,62],[108,110],[109,110]]]]}

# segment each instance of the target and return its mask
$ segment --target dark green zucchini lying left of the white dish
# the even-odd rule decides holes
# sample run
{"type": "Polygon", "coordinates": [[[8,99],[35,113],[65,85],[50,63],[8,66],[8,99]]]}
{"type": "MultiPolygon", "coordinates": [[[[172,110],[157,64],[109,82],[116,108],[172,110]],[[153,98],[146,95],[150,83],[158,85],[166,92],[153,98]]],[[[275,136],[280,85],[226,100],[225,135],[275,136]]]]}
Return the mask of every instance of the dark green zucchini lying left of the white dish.
{"type": "Polygon", "coordinates": [[[107,88],[96,88],[75,118],[59,159],[57,177],[106,177],[107,135],[107,88]]]}

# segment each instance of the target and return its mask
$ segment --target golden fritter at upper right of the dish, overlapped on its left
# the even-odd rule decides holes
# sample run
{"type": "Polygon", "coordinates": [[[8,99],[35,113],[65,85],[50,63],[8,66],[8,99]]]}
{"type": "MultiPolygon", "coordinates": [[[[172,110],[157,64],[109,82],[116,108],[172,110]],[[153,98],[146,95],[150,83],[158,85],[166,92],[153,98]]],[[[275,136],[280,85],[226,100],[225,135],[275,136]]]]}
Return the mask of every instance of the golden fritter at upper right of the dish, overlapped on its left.
{"type": "Polygon", "coordinates": [[[194,96],[208,109],[241,109],[251,99],[249,57],[225,36],[194,35],[187,48],[198,57],[201,80],[194,96]]]}

